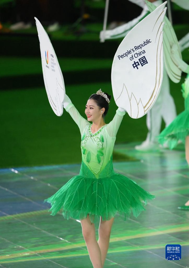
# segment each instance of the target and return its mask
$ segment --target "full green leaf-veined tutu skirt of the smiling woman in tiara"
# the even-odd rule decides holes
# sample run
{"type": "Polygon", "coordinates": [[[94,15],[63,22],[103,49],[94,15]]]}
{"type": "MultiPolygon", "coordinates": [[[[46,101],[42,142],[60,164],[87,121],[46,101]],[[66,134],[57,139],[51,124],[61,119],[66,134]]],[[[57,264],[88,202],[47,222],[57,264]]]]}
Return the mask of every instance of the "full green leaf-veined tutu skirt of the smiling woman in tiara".
{"type": "Polygon", "coordinates": [[[94,222],[95,216],[110,220],[116,213],[128,218],[133,212],[137,217],[145,210],[151,195],[133,180],[115,173],[112,160],[97,179],[82,162],[80,174],[70,179],[53,196],[44,202],[51,204],[51,215],[62,210],[64,218],[85,219],[88,215],[94,222]]]}

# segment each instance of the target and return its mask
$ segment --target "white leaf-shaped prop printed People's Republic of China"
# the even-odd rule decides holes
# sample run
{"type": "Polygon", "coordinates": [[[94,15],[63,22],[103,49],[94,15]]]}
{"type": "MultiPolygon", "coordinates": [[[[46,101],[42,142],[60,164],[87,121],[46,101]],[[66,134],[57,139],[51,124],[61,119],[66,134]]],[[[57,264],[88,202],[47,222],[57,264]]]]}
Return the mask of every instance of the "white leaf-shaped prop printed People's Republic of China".
{"type": "Polygon", "coordinates": [[[132,118],[144,116],[152,108],[161,88],[165,4],[125,36],[114,56],[111,70],[114,99],[132,118]]]}

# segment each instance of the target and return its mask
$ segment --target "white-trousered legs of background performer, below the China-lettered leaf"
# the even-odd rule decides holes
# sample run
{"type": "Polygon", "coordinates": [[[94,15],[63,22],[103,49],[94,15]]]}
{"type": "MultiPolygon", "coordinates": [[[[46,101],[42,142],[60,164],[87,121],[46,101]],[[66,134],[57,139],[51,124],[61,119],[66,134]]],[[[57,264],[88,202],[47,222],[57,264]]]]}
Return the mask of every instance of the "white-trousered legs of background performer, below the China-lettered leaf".
{"type": "Polygon", "coordinates": [[[160,134],[162,118],[168,126],[176,117],[176,107],[170,95],[170,86],[167,72],[163,70],[161,91],[152,109],[147,113],[148,134],[146,140],[135,147],[136,150],[145,151],[158,145],[157,136],[160,134]]]}

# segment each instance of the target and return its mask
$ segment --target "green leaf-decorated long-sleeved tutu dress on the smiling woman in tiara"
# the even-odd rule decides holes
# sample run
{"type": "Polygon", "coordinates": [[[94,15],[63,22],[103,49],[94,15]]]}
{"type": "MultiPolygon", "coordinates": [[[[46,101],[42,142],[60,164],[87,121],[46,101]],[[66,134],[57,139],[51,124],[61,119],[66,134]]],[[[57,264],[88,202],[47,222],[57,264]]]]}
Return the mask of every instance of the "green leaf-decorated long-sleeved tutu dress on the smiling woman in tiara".
{"type": "Polygon", "coordinates": [[[116,213],[128,218],[133,212],[138,216],[145,210],[147,199],[154,196],[129,178],[114,172],[112,152],[116,133],[125,112],[119,109],[114,119],[95,134],[91,124],[84,119],[71,103],[66,107],[81,132],[82,163],[79,175],[70,179],[53,196],[46,199],[51,203],[51,215],[60,209],[66,219],[84,219],[89,215],[110,220],[116,213]]]}

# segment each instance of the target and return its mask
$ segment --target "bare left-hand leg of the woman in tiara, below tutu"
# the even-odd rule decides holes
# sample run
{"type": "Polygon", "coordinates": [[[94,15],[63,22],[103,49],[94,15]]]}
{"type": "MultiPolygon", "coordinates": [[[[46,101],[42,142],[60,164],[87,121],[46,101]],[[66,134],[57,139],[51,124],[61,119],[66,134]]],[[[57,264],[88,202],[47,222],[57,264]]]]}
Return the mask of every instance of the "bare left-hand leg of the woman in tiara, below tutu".
{"type": "Polygon", "coordinates": [[[95,225],[89,219],[81,220],[82,233],[94,268],[103,268],[100,247],[96,240],[95,225]]]}

